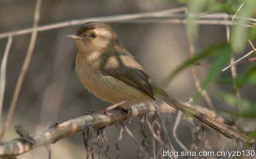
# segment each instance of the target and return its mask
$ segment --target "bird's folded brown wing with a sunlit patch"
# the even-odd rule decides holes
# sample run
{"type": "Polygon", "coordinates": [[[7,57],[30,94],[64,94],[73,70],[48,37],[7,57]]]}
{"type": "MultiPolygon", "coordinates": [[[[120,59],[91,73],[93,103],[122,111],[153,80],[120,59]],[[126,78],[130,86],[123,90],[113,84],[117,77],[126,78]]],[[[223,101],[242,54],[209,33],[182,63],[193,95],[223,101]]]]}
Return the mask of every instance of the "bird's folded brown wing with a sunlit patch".
{"type": "Polygon", "coordinates": [[[124,48],[105,57],[101,72],[126,82],[155,99],[147,73],[124,48]]]}

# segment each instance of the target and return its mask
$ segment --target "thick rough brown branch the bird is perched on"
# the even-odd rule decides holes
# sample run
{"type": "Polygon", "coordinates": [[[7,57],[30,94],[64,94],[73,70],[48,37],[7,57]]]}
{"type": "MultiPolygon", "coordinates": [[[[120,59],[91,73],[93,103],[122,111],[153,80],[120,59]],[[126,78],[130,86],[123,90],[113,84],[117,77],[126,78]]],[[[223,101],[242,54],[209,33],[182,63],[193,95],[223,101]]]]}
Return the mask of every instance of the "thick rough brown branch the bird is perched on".
{"type": "MultiPolygon", "coordinates": [[[[54,144],[62,138],[82,131],[83,127],[88,124],[92,125],[93,128],[107,127],[121,121],[140,117],[145,113],[153,115],[156,108],[161,114],[174,114],[176,112],[176,110],[168,104],[161,101],[159,102],[160,104],[158,106],[148,103],[135,104],[131,106],[131,111],[128,111],[128,113],[120,109],[113,110],[111,111],[111,114],[114,118],[106,114],[95,113],[71,119],[59,125],[51,126],[44,132],[36,135],[21,135],[21,138],[0,143],[0,157],[17,156],[41,146],[54,144]]],[[[223,117],[217,116],[214,111],[208,110],[207,108],[197,107],[197,110],[219,120],[222,123],[226,121],[223,117]]]]}

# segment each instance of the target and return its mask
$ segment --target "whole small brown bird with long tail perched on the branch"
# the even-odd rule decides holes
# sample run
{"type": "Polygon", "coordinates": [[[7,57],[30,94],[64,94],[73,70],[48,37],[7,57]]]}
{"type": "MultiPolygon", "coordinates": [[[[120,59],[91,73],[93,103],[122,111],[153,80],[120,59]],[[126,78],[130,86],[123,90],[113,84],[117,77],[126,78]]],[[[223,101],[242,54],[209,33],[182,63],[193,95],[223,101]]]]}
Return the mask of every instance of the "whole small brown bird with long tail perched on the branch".
{"type": "Polygon", "coordinates": [[[76,42],[76,73],[83,85],[101,100],[120,107],[131,104],[164,101],[228,138],[253,139],[220,123],[186,104],[174,100],[155,83],[134,57],[122,46],[115,31],[100,22],[88,22],[76,34],[68,35],[76,42]]]}

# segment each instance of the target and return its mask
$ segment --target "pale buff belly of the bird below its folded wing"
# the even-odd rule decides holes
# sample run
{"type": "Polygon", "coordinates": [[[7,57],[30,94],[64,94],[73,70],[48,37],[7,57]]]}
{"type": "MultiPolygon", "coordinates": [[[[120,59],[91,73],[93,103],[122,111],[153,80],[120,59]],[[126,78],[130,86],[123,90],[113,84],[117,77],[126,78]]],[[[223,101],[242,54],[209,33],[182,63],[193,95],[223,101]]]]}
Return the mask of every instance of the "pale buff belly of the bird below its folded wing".
{"type": "Polygon", "coordinates": [[[125,100],[126,103],[124,105],[152,100],[152,98],[144,92],[135,89],[115,77],[103,75],[100,71],[93,74],[89,73],[92,72],[89,71],[89,68],[77,68],[76,71],[83,86],[101,100],[113,104],[125,100]]]}

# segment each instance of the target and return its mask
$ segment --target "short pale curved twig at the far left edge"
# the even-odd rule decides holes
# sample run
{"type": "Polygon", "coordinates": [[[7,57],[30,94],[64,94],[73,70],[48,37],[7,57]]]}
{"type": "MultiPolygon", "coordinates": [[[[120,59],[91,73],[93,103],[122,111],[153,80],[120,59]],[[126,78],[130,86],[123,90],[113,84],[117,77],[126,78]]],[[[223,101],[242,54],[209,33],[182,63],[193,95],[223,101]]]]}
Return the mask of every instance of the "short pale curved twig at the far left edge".
{"type": "Polygon", "coordinates": [[[1,76],[0,76],[0,121],[1,121],[1,114],[3,108],[3,100],[4,100],[4,90],[5,90],[5,83],[6,83],[6,65],[7,65],[7,58],[8,54],[12,45],[13,37],[10,36],[8,38],[6,48],[4,51],[4,56],[1,63],[1,76]]]}

